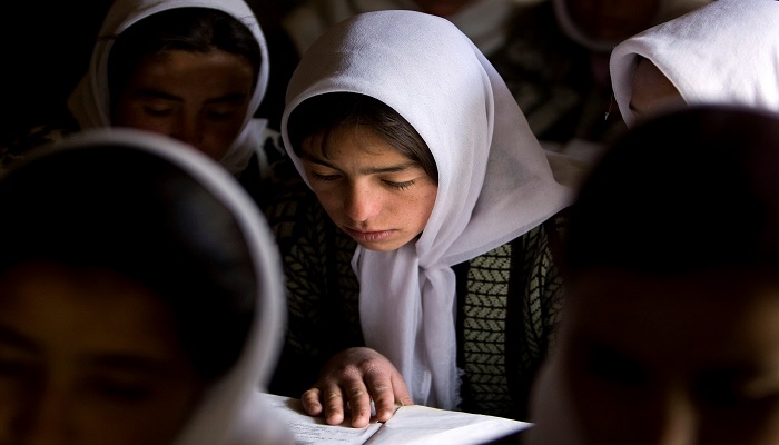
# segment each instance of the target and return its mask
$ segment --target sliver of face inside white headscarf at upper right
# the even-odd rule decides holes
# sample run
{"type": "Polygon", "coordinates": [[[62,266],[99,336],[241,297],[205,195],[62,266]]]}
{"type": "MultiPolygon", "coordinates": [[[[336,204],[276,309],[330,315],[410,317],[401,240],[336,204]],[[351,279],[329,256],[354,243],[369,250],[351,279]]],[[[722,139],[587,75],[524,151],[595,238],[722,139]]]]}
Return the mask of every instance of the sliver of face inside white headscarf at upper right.
{"type": "Polygon", "coordinates": [[[648,59],[641,58],[633,71],[630,109],[641,119],[668,107],[684,105],[677,87],[648,59]]]}

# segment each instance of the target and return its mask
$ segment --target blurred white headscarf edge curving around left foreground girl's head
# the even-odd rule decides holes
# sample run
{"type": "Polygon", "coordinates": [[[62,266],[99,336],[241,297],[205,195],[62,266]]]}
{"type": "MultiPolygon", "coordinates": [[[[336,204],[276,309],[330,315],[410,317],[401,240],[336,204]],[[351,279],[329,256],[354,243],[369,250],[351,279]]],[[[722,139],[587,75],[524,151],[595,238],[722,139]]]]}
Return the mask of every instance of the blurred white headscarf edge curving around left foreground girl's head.
{"type": "Polygon", "coordinates": [[[178,140],[151,132],[106,128],[72,135],[52,149],[121,145],[158,156],[187,172],[227,207],[255,265],[255,316],[236,364],[210,384],[175,445],[290,444],[286,427],[260,398],[276,366],[284,336],[284,278],[275,239],[252,198],[225,169],[178,140]]]}

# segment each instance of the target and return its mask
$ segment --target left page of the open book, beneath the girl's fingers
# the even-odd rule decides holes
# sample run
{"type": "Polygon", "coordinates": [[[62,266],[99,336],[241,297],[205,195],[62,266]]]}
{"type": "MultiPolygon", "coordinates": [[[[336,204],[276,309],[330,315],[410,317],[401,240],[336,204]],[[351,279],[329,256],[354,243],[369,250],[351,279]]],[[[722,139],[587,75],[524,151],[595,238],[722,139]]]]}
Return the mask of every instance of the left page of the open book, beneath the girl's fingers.
{"type": "Polygon", "coordinates": [[[342,425],[327,425],[322,417],[312,417],[303,411],[299,399],[263,394],[274,414],[292,431],[295,445],[362,445],[382,424],[376,421],[364,428],[353,428],[346,421],[342,425]]]}

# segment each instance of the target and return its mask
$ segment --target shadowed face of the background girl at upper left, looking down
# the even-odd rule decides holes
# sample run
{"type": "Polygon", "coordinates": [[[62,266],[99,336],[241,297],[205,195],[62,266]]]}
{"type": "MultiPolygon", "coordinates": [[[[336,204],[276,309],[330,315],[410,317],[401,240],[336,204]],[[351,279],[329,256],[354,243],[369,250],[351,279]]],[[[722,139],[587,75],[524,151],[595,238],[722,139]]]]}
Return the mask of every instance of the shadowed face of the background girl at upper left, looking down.
{"type": "Polygon", "coordinates": [[[114,125],[174,137],[218,161],[241,129],[254,80],[241,56],[167,51],[140,63],[114,125]]]}

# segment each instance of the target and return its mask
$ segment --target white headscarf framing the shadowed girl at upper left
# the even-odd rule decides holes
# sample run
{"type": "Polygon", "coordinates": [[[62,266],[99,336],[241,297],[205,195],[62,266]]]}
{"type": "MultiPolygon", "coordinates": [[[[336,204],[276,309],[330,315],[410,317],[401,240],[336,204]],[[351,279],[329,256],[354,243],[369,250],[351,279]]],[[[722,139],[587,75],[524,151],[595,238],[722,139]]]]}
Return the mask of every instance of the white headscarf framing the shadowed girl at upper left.
{"type": "Polygon", "coordinates": [[[259,22],[252,9],[243,0],[116,0],[108,11],[100,29],[100,37],[89,62],[89,70],[68,99],[68,107],[81,128],[109,127],[110,101],[108,92],[108,56],[114,40],[132,23],[160,11],[176,8],[210,8],[224,11],[246,24],[259,43],[262,65],[257,73],[257,83],[249,107],[244,118],[244,127],[233,146],[219,160],[233,174],[243,171],[255,152],[262,134],[267,126],[266,119],[254,118],[268,85],[268,49],[259,28],[259,22]],[[107,39],[108,38],[108,39],[107,39]]]}

